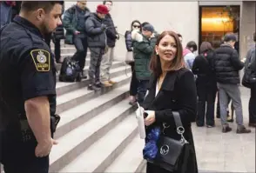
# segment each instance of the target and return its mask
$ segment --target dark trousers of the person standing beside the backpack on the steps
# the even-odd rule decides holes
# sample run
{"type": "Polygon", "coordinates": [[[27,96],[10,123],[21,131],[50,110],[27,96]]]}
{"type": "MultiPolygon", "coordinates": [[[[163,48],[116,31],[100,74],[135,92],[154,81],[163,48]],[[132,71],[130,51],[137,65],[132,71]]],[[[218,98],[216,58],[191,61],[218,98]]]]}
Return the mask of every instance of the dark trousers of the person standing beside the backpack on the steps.
{"type": "Polygon", "coordinates": [[[73,37],[73,43],[77,49],[77,52],[74,54],[73,59],[78,62],[80,69],[83,71],[85,65],[85,58],[87,56],[87,37],[75,35],[73,37]]]}

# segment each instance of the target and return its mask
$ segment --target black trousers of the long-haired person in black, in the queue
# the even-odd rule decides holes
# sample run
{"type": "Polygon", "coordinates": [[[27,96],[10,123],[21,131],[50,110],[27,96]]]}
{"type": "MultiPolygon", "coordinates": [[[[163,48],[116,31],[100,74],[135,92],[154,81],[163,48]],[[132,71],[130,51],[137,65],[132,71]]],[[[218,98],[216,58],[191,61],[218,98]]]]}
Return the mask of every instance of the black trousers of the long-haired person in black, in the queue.
{"type": "Polygon", "coordinates": [[[212,85],[207,85],[203,82],[197,83],[198,100],[198,115],[196,122],[198,126],[214,125],[214,103],[216,98],[217,88],[212,85]],[[205,114],[206,104],[206,114],[205,114]]]}

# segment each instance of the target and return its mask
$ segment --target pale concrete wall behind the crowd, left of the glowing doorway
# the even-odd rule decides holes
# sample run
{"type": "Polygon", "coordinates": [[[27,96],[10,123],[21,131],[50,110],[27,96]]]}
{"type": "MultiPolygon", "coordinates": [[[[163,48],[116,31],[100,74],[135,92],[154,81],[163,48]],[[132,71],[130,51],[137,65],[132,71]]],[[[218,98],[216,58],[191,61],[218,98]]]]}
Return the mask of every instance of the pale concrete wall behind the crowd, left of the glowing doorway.
{"type": "MultiPolygon", "coordinates": [[[[76,2],[65,2],[65,9],[76,2]]],[[[88,1],[88,7],[95,11],[102,1],[88,1]]],[[[152,23],[155,30],[174,30],[183,35],[183,44],[193,40],[199,42],[199,3],[198,2],[114,2],[111,16],[120,33],[115,57],[125,58],[125,30],[130,30],[131,21],[152,23]],[[123,35],[123,36],[122,36],[123,35]]]]}

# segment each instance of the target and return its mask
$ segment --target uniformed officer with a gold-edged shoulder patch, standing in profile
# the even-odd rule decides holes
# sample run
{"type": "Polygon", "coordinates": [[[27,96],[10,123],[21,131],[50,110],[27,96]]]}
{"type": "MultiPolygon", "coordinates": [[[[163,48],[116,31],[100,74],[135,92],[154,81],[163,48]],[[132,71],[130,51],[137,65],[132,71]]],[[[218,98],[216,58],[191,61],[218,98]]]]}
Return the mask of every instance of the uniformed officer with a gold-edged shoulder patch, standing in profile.
{"type": "Polygon", "coordinates": [[[48,173],[57,118],[56,70],[44,35],[62,1],[24,1],[0,35],[0,159],[5,173],[48,173]],[[54,125],[53,125],[54,124],[54,125]]]}

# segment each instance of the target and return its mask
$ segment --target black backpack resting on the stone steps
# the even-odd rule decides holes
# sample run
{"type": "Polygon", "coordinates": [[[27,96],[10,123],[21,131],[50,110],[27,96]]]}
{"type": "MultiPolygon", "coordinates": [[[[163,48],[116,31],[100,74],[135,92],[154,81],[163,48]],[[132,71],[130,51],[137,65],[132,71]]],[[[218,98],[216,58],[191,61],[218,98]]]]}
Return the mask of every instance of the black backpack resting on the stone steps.
{"type": "Polygon", "coordinates": [[[73,83],[79,81],[79,77],[80,67],[78,62],[71,57],[65,57],[64,62],[61,65],[59,81],[73,83]]]}

